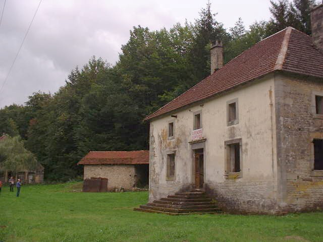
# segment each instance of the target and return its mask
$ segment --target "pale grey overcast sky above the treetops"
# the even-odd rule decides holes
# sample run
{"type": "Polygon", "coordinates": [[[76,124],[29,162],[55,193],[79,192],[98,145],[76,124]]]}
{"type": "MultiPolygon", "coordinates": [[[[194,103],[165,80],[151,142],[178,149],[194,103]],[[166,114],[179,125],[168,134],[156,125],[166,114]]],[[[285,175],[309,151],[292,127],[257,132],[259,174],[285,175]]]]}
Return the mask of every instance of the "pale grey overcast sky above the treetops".
{"type": "MultiPolygon", "coordinates": [[[[0,0],[0,14],[5,0],[0,0]]],[[[129,30],[150,30],[194,22],[206,7],[200,0],[43,0],[11,74],[0,92],[0,107],[23,104],[41,90],[55,93],[76,66],[93,55],[111,64],[118,61],[129,30]]],[[[239,17],[246,26],[270,18],[269,0],[210,0],[225,28],[239,17]]],[[[7,0],[0,25],[0,88],[24,38],[39,0],[7,0]]]]}

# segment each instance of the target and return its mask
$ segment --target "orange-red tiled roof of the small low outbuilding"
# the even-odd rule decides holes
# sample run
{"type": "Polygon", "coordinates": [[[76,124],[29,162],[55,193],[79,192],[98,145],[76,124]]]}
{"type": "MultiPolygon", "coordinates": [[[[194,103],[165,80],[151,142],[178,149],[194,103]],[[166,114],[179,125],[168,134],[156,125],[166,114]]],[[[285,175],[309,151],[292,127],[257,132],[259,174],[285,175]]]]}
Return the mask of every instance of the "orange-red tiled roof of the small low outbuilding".
{"type": "Polygon", "coordinates": [[[77,164],[149,164],[149,150],[90,151],[77,164]]]}

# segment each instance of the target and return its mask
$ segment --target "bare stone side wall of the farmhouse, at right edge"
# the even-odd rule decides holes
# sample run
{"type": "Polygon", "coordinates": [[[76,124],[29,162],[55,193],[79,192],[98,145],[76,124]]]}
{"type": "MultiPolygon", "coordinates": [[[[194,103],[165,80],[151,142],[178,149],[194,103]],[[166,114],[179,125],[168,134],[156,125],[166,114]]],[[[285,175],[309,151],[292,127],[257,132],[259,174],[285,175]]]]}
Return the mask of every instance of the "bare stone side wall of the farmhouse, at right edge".
{"type": "Polygon", "coordinates": [[[277,74],[277,152],[279,200],[289,211],[323,207],[323,171],[313,171],[313,139],[323,138],[323,116],[315,114],[322,79],[277,74]],[[315,117],[316,116],[316,117],[315,117]]]}

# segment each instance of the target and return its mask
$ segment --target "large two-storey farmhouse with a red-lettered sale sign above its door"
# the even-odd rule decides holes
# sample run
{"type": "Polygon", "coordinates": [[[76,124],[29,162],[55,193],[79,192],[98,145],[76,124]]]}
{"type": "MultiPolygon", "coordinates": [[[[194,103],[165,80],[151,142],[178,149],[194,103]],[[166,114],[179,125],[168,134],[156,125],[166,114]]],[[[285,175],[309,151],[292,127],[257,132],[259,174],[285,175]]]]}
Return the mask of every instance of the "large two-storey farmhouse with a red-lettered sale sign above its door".
{"type": "Polygon", "coordinates": [[[172,212],[193,189],[229,212],[323,208],[323,4],[311,22],[311,37],[288,27],[225,66],[217,40],[211,75],[146,117],[149,203],[138,210],[172,212]]]}

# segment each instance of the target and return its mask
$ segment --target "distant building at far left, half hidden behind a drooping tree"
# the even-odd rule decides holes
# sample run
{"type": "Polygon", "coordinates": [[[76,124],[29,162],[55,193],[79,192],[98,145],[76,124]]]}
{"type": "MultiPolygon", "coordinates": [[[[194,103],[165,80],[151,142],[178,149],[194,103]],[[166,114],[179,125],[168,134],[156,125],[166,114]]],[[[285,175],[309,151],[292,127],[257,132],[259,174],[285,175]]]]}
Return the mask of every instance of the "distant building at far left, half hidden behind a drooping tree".
{"type": "MultiPolygon", "coordinates": [[[[6,134],[3,134],[0,137],[0,142],[4,141],[8,136],[6,134]]],[[[1,159],[1,157],[0,157],[1,159]]],[[[0,160],[1,162],[1,160],[0,160]]],[[[1,166],[0,166],[1,167],[1,166]]],[[[12,170],[8,169],[1,169],[0,168],[0,180],[4,183],[7,183],[9,178],[13,176],[16,180],[18,178],[21,179],[23,184],[39,184],[43,183],[44,181],[44,167],[37,162],[37,165],[35,169],[33,170],[19,170],[17,172],[14,172],[12,170]]]]}

